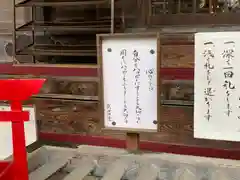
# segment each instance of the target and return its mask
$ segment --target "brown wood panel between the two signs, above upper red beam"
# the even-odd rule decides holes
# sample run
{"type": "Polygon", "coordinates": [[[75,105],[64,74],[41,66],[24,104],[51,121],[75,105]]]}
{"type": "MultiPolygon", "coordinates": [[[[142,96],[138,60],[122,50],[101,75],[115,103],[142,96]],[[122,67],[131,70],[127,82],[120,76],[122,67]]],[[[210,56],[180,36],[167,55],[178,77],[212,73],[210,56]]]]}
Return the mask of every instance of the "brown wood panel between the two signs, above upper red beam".
{"type": "Polygon", "coordinates": [[[164,68],[193,68],[194,45],[162,45],[161,57],[164,68]]]}

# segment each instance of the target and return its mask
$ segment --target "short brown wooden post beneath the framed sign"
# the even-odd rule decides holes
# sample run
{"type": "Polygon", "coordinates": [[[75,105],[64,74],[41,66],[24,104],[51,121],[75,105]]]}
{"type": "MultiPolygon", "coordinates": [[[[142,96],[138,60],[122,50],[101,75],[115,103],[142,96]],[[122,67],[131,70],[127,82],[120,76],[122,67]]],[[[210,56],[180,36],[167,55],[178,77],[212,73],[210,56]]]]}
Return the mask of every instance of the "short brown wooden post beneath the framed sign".
{"type": "Polygon", "coordinates": [[[130,152],[136,152],[139,150],[139,134],[127,133],[126,136],[126,149],[130,152]]]}

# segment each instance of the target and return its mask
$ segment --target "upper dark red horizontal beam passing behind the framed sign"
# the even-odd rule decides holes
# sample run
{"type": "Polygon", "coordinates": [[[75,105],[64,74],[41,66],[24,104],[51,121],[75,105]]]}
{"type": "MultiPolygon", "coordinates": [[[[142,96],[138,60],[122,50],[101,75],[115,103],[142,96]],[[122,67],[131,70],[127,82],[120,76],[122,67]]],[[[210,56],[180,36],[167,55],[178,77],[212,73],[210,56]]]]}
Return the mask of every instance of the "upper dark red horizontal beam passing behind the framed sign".
{"type": "MultiPolygon", "coordinates": [[[[163,79],[186,79],[194,78],[192,68],[162,68],[161,78],[163,79]]],[[[80,67],[38,67],[38,66],[12,66],[9,64],[0,65],[1,74],[33,74],[52,76],[88,76],[97,77],[97,68],[80,67]]]]}

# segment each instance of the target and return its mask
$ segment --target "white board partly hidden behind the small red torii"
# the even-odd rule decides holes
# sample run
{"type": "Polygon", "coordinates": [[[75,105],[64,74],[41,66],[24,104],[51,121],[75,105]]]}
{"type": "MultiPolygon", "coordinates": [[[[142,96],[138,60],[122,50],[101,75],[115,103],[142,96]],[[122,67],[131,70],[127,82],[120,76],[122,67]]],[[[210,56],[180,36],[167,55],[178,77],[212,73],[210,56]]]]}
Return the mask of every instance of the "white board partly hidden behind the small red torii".
{"type": "MultiPolygon", "coordinates": [[[[24,122],[26,145],[37,141],[37,123],[34,107],[23,107],[23,110],[29,111],[29,121],[24,122]]],[[[7,105],[0,105],[0,111],[10,111],[7,105]]],[[[12,146],[12,127],[11,122],[0,122],[0,160],[4,160],[13,153],[12,146]]]]}

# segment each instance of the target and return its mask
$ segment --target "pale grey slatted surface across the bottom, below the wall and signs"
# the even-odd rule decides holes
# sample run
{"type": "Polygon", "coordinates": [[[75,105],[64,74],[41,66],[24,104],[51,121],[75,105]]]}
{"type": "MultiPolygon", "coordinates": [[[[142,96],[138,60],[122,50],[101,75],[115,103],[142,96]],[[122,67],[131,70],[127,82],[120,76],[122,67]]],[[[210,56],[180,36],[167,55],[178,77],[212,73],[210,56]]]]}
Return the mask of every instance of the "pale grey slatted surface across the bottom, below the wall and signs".
{"type": "MultiPolygon", "coordinates": [[[[59,169],[48,172],[50,180],[236,180],[240,179],[239,161],[204,158],[167,153],[129,154],[121,149],[94,146],[79,146],[75,149],[43,147],[49,151],[48,160],[36,172],[43,176],[41,169],[49,164],[58,164],[59,169]],[[63,155],[65,154],[65,155],[63,155]],[[67,155],[69,160],[62,166],[67,155]],[[71,155],[71,156],[70,156],[71,155]],[[91,166],[91,168],[87,168],[91,166]],[[92,166],[93,165],[93,166],[92,166]],[[84,168],[85,167],[85,168],[84,168]],[[102,168],[102,171],[96,169],[102,168]],[[87,169],[87,171],[85,171],[87,169]],[[75,176],[71,177],[71,172],[75,176]],[[81,171],[83,174],[81,174],[81,171]]],[[[43,156],[46,156],[44,150],[43,156]]],[[[38,151],[39,153],[43,151],[38,151]]],[[[31,157],[31,155],[30,155],[31,157]]],[[[29,159],[31,161],[31,159],[29,159]]],[[[35,158],[36,160],[36,158],[35,158]]],[[[33,163],[32,165],[37,163],[33,163]]],[[[55,166],[54,165],[54,166],[55,166]]],[[[30,167],[34,169],[34,167],[30,167]]],[[[46,168],[45,168],[46,169],[46,168]]],[[[31,174],[37,174],[33,171],[31,174]]],[[[48,169],[48,171],[50,171],[48,169]]],[[[32,177],[32,179],[39,177],[32,177]]],[[[41,179],[41,178],[40,178],[41,179]]],[[[45,180],[45,179],[41,179],[45,180]]]]}

